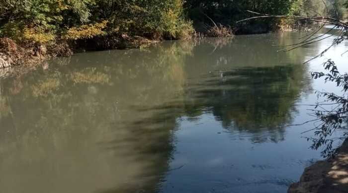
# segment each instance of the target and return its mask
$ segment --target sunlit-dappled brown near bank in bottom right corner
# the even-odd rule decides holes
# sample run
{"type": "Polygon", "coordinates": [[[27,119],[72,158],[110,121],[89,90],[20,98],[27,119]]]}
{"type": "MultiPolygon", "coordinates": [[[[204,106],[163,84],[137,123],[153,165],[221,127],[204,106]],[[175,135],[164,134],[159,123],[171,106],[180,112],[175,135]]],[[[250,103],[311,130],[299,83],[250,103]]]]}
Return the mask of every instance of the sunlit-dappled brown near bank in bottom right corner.
{"type": "Polygon", "coordinates": [[[347,193],[348,139],[332,160],[318,161],[307,167],[300,182],[289,187],[288,193],[347,193]]]}

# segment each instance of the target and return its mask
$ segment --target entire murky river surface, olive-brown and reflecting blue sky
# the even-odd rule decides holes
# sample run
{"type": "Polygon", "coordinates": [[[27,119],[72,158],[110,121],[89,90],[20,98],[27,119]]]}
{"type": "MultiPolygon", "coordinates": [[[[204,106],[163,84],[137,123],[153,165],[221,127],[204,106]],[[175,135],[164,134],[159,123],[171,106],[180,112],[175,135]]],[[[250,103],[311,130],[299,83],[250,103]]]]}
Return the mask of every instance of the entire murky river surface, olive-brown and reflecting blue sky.
{"type": "Polygon", "coordinates": [[[302,64],[332,39],[271,46],[300,36],[77,54],[0,79],[0,192],[285,193],[321,159],[312,126],[288,125],[336,89],[310,78],[325,57],[302,64]]]}

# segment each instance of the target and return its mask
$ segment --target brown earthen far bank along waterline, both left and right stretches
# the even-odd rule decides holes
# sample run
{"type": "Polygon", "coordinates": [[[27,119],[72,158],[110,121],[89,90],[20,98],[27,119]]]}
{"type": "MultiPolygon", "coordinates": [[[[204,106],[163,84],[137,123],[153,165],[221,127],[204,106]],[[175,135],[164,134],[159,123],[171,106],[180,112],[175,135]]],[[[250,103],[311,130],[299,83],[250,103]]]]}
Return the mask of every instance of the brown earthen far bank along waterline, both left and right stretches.
{"type": "MultiPolygon", "coordinates": [[[[278,28],[275,31],[285,32],[293,29],[283,30],[278,28]]],[[[208,31],[193,33],[189,38],[205,38],[205,37],[233,37],[234,33],[238,35],[245,34],[262,34],[269,33],[270,30],[264,25],[252,25],[242,28],[231,29],[225,26],[212,27],[208,31]]],[[[188,37],[186,37],[188,39],[188,37]]],[[[113,49],[132,49],[148,47],[160,41],[164,41],[161,37],[141,37],[128,36],[126,34],[120,36],[100,36],[90,39],[67,41],[59,40],[54,44],[36,44],[36,43],[16,43],[9,38],[0,38],[0,68],[7,68],[17,65],[32,66],[40,61],[52,57],[67,57],[74,53],[86,51],[102,51],[113,49]]]]}

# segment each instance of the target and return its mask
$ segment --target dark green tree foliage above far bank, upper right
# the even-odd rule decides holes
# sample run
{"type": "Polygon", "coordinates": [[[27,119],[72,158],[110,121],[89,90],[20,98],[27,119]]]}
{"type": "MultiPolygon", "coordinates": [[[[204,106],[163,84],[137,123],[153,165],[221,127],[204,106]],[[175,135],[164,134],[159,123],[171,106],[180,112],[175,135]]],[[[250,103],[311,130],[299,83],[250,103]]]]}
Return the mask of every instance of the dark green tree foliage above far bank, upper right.
{"type": "MultiPolygon", "coordinates": [[[[208,23],[212,18],[216,23],[236,25],[236,21],[255,16],[247,10],[273,15],[301,16],[335,16],[334,12],[342,9],[342,0],[187,0],[189,17],[198,22],[208,23]],[[327,6],[327,8],[326,8],[327,6]],[[329,11],[329,13],[327,13],[329,11]],[[207,16],[205,16],[207,15],[207,16]]],[[[342,12],[342,10],[338,11],[342,12]]],[[[339,13],[339,15],[342,15],[339,13]]],[[[258,19],[248,21],[250,24],[267,24],[271,28],[282,21],[274,19],[258,19]]],[[[197,23],[198,23],[197,22],[197,23]]],[[[286,21],[290,25],[294,21],[286,21]]],[[[238,26],[237,26],[238,28],[238,26]]]]}

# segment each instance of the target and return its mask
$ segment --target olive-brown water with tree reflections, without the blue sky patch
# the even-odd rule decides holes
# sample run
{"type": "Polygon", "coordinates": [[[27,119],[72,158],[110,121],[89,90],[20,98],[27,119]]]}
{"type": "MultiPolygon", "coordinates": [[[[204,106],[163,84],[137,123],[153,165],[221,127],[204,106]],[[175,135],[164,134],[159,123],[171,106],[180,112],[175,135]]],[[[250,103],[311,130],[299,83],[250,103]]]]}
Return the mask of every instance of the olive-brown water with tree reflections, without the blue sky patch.
{"type": "Polygon", "coordinates": [[[213,115],[252,142],[284,140],[310,80],[301,53],[264,46],[277,41],[268,34],[78,54],[3,79],[0,187],[161,191],[182,118],[213,115]]]}

